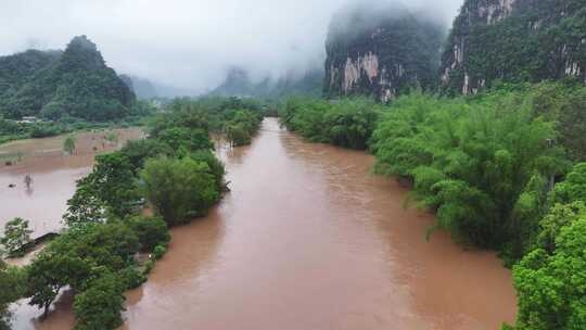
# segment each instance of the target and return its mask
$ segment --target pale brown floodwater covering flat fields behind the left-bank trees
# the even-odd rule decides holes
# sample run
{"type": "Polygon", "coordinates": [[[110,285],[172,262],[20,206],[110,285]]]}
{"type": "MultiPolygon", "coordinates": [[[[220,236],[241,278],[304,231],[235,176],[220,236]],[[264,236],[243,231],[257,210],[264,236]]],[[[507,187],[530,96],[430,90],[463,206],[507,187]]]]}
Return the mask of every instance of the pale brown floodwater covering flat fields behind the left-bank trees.
{"type": "Polygon", "coordinates": [[[65,136],[0,145],[0,232],[14,217],[29,220],[35,238],[59,231],[75,182],[90,173],[94,156],[141,137],[139,128],[79,132],[72,155],[63,152],[65,136]],[[117,140],[104,139],[109,132],[114,132],[117,140]],[[13,163],[10,166],[9,161],[13,163]],[[24,182],[26,175],[33,178],[30,189],[24,182]]]}

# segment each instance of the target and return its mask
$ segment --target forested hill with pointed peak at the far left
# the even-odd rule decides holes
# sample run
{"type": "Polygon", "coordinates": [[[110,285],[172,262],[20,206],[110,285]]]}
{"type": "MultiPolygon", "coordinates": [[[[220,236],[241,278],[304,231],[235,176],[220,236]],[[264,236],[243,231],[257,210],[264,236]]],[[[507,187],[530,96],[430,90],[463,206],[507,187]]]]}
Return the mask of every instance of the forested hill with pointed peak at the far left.
{"type": "Polygon", "coordinates": [[[0,114],[103,122],[132,112],[136,97],[86,36],[64,52],[27,51],[0,58],[0,114]]]}

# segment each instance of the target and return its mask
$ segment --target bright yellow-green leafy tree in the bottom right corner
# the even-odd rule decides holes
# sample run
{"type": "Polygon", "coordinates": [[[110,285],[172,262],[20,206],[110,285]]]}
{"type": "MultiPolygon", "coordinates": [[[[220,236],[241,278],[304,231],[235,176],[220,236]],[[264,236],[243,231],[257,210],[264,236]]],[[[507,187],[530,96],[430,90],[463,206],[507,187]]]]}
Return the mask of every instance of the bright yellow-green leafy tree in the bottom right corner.
{"type": "Polygon", "coordinates": [[[515,329],[584,329],[586,327],[586,218],[563,227],[552,254],[528,253],[513,268],[519,296],[515,329]]]}

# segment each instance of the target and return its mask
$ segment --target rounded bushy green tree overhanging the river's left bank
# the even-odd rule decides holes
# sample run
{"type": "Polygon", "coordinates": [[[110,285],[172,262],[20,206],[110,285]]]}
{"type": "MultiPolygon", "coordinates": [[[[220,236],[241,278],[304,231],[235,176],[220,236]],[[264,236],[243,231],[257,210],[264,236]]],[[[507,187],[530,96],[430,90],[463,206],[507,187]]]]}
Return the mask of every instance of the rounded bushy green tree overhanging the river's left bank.
{"type": "Polygon", "coordinates": [[[209,166],[190,157],[149,160],[141,178],[146,199],[169,226],[205,215],[220,195],[209,166]]]}

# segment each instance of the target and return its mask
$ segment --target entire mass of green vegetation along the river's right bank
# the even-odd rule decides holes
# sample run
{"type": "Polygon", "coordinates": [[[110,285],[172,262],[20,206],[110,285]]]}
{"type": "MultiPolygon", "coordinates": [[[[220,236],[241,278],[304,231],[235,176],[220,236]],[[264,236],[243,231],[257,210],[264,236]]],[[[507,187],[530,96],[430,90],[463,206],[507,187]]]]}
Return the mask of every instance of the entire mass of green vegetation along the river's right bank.
{"type": "Polygon", "coordinates": [[[584,104],[581,85],[543,82],[469,98],[413,91],[388,106],[291,99],[280,116],[311,141],[369,149],[378,173],[410,181],[409,201],[436,214],[430,234],[499,251],[513,267],[515,329],[583,329],[584,104]]]}

